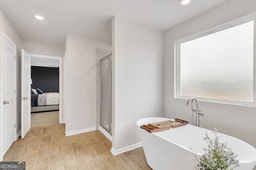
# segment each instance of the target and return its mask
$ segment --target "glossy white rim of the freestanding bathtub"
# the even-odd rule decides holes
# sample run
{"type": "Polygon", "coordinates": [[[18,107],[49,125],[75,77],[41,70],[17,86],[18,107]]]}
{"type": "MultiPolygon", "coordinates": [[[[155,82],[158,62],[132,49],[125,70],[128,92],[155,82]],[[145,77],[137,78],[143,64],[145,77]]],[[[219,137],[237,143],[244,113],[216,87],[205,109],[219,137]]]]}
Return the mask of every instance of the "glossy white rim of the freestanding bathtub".
{"type": "MultiPolygon", "coordinates": [[[[141,125],[139,124],[139,121],[142,121],[143,119],[162,119],[163,121],[165,121],[165,120],[170,120],[170,119],[164,118],[164,117],[146,117],[146,118],[142,118],[142,119],[139,119],[139,120],[136,122],[136,124],[137,124],[137,126],[138,126],[139,128],[140,128],[140,126],[141,126],[141,125]]],[[[152,123],[154,123],[154,122],[152,122],[152,123]]],[[[142,125],[143,125],[143,124],[142,124],[142,125]]],[[[193,125],[186,124],[185,126],[193,126],[193,125]]],[[[197,127],[197,128],[205,129],[205,128],[202,128],[202,127],[197,127]]],[[[141,128],[140,128],[140,129],[141,129],[141,128]]],[[[171,129],[172,129],[172,128],[171,128],[171,129]]],[[[144,130],[144,129],[142,129],[142,130],[144,130]]],[[[209,129],[205,129],[205,130],[207,130],[208,132],[213,132],[212,130],[209,130],[209,129]]],[[[144,130],[144,131],[145,131],[145,130],[144,130]]],[[[174,141],[171,141],[170,139],[167,139],[167,138],[165,138],[165,137],[163,137],[163,136],[157,134],[157,132],[153,132],[153,133],[151,133],[151,134],[154,134],[154,135],[156,135],[156,136],[158,136],[158,137],[160,137],[160,138],[162,138],[162,139],[164,139],[164,140],[166,140],[166,141],[168,141],[168,142],[170,142],[170,143],[173,143],[174,145],[177,145],[177,146],[181,147],[182,149],[185,149],[185,150],[188,150],[188,151],[192,152],[192,150],[190,150],[190,149],[188,149],[188,148],[186,148],[186,147],[184,147],[184,146],[182,146],[182,145],[180,145],[180,144],[178,144],[178,143],[176,143],[176,142],[174,142],[174,141]]],[[[241,161],[238,160],[239,163],[251,163],[251,162],[256,162],[256,149],[255,149],[252,145],[250,145],[250,144],[248,144],[248,143],[242,141],[241,139],[238,139],[238,138],[236,138],[236,137],[232,137],[232,136],[230,136],[230,135],[226,135],[226,134],[223,134],[223,133],[218,133],[218,134],[228,136],[228,137],[230,137],[230,138],[232,138],[232,139],[234,139],[234,140],[237,140],[237,141],[239,141],[239,142],[245,144],[245,145],[246,145],[247,147],[249,147],[251,150],[254,150],[252,158],[249,158],[249,159],[246,159],[246,160],[241,160],[241,161]]],[[[143,146],[143,143],[142,143],[142,146],[143,146]]],[[[196,155],[198,155],[198,156],[202,156],[201,153],[198,153],[198,152],[195,152],[195,151],[192,152],[192,153],[194,153],[194,154],[196,154],[196,155]]]]}

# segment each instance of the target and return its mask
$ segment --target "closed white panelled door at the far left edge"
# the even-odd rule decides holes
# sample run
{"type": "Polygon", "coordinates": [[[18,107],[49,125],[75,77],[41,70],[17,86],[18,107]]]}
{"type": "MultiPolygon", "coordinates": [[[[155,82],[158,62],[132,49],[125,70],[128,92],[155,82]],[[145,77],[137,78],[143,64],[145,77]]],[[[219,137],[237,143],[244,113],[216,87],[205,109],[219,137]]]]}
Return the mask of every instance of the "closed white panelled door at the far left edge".
{"type": "Polygon", "coordinates": [[[4,33],[1,35],[1,147],[2,156],[15,136],[16,118],[16,45],[4,33]]]}

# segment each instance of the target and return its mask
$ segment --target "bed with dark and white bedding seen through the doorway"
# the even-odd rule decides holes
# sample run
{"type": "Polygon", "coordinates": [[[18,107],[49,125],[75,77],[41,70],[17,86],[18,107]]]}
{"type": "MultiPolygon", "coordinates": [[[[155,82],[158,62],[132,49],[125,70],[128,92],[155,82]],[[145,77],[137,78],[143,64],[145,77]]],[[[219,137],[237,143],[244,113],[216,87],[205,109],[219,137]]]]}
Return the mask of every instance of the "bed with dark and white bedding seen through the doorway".
{"type": "Polygon", "coordinates": [[[59,109],[59,93],[31,94],[31,112],[59,109]]]}

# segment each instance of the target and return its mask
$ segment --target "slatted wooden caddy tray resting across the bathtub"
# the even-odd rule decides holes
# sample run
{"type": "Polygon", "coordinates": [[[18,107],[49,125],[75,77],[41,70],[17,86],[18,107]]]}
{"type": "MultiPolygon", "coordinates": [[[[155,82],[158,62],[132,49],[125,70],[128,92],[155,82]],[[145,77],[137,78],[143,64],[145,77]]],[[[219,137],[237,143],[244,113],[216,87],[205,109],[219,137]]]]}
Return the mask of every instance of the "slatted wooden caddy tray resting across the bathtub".
{"type": "Polygon", "coordinates": [[[141,125],[140,128],[145,129],[146,131],[152,133],[152,132],[160,132],[165,131],[168,129],[180,127],[188,124],[188,121],[184,121],[181,119],[175,118],[174,122],[171,122],[170,120],[167,121],[160,121],[156,123],[149,123],[148,125],[141,125]]]}

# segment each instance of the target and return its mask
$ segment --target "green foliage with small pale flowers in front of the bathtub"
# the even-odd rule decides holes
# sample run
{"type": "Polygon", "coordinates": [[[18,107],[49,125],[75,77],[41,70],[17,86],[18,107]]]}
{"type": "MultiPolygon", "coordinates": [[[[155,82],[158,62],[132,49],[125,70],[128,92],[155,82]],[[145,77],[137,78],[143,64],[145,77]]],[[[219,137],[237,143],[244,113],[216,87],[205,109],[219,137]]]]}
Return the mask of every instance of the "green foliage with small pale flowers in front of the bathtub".
{"type": "Polygon", "coordinates": [[[214,129],[214,141],[210,139],[208,133],[206,133],[204,140],[206,141],[208,147],[202,148],[204,150],[204,154],[200,157],[196,157],[196,153],[192,148],[192,152],[194,152],[194,157],[192,161],[196,163],[196,170],[232,170],[235,167],[239,166],[238,160],[236,160],[237,154],[231,150],[231,148],[227,147],[227,143],[220,143],[217,129],[214,129]],[[232,167],[231,169],[228,169],[232,167]]]}

